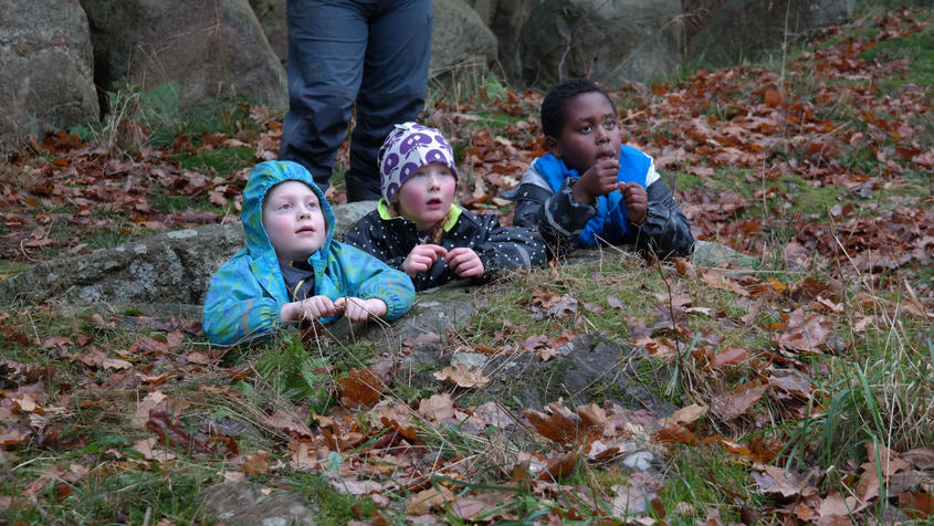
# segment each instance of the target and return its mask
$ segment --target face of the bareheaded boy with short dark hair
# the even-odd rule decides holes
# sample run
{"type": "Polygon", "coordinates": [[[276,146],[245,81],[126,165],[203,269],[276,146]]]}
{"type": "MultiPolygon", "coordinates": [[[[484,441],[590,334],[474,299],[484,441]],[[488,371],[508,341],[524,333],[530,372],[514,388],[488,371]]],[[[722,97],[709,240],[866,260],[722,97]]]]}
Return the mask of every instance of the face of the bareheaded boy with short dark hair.
{"type": "Polygon", "coordinates": [[[601,160],[619,159],[616,109],[600,92],[581,93],[567,102],[560,135],[546,137],[546,143],[555,157],[580,175],[601,160]]]}

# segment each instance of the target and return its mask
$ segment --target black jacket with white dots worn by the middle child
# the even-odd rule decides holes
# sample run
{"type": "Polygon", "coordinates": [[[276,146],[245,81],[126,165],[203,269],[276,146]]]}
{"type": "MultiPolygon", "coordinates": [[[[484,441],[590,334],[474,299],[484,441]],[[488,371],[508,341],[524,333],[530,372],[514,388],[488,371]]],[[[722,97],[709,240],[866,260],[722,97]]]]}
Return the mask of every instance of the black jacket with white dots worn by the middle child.
{"type": "MultiPolygon", "coordinates": [[[[537,232],[515,227],[500,227],[495,215],[474,215],[456,204],[444,224],[441,246],[451,250],[458,246],[473,249],[483,262],[484,277],[492,272],[507,269],[529,267],[544,264],[545,243],[537,232]]],[[[402,262],[418,244],[416,224],[399,215],[392,215],[385,199],[376,210],[363,219],[344,235],[344,242],[385,261],[393,269],[402,269],[402,262]]],[[[428,272],[419,273],[414,281],[416,291],[443,285],[458,277],[439,259],[428,272]]]]}

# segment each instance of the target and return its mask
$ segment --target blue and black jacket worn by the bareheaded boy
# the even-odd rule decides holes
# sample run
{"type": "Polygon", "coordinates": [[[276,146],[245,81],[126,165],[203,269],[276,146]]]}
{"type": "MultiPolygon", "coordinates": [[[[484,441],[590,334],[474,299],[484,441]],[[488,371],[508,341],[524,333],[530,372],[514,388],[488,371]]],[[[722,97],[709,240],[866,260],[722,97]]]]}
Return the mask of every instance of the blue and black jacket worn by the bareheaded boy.
{"type": "Polygon", "coordinates": [[[536,159],[520,185],[504,194],[518,201],[514,223],[537,228],[553,254],[606,242],[632,244],[642,251],[651,248],[660,257],[690,255],[694,250],[691,223],[655,173],[652,158],[623,145],[619,166],[617,181],[646,187],[644,223],[636,225],[629,221],[619,192],[600,197],[594,203],[577,202],[571,187],[580,179],[579,173],[552,154],[536,159]]]}

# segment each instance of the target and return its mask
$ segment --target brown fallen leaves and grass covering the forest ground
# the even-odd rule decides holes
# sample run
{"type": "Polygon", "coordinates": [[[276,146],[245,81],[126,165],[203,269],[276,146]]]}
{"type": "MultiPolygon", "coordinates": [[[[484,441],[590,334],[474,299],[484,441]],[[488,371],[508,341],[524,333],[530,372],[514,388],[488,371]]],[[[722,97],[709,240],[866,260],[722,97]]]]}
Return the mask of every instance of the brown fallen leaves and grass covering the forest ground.
{"type": "MultiPolygon", "coordinates": [[[[924,274],[934,255],[930,86],[880,87],[880,78],[910,74],[911,62],[859,56],[886,40],[927,31],[922,14],[893,11],[847,32],[831,30],[822,45],[780,71],[702,71],[676,84],[617,94],[627,143],[652,154],[660,170],[702,182],[738,181],[675,186],[695,235],[764,259],[777,254],[789,271],[743,273],[678,261],[659,267],[664,287],[651,293],[654,312],[644,316],[629,316],[637,306],[613,294],[587,302],[574,290],[542,285],[521,307],[528,319],[559,327],[554,333],[527,334],[504,320],[504,335],[482,344],[428,336],[454,350],[536,353],[549,360],[575,333],[590,329],[589,319],[626,316],[626,338],[679,371],[681,409],[671,418],[559,400],[548,400],[544,412],[493,401],[461,406],[465,392],[490,381],[463,366],[433,371],[443,386],[439,392],[407,403],[384,382],[401,357],[379,354],[365,366],[314,371],[337,379],[328,394],[338,403],[308,419],[314,408],[307,399],[253,404],[241,386],[256,380],[254,365],[230,366],[223,350],[200,344],[195,323],[92,315],[61,334],[51,306],[33,306],[27,315],[0,314],[0,511],[48,520],[46,508],[67,508],[103,478],[169,477],[200,463],[211,473],[204,485],[251,480],[276,486],[297,472],[315,473],[364,499],[369,512],[355,511],[374,523],[931,517],[934,292],[930,270],[924,274]],[[867,28],[873,38],[852,36],[867,28]],[[912,185],[926,186],[926,193],[901,191],[912,185]],[[820,189],[832,190],[836,203],[798,203],[820,189]],[[901,349],[919,381],[872,378],[870,385],[867,377],[882,366],[860,355],[878,341],[901,349]],[[827,465],[828,444],[842,450],[840,443],[854,440],[819,425],[846,402],[832,389],[842,389],[841,360],[865,369],[861,383],[843,387],[879,396],[867,397],[870,408],[857,412],[865,421],[841,422],[840,429],[877,433],[857,436],[861,454],[827,465]],[[212,407],[233,408],[259,438],[237,420],[211,415],[212,407]],[[102,425],[118,431],[103,440],[102,425]],[[503,439],[513,435],[522,440],[503,439]],[[705,506],[674,497],[672,477],[651,470],[617,469],[615,478],[600,483],[598,474],[612,473],[612,461],[632,444],[665,457],[718,451],[745,473],[746,488],[712,476],[709,484],[724,496],[705,506]]],[[[508,221],[500,191],[544,152],[535,117],[541,98],[510,91],[501,99],[431,108],[427,120],[464,152],[463,173],[472,170],[461,188],[468,207],[508,221]],[[491,128],[484,113],[510,116],[511,124],[491,128]]],[[[111,232],[116,217],[127,220],[120,236],[235,217],[249,168],[206,172],[176,159],[242,146],[253,150],[254,161],[274,158],[279,122],[261,107],[249,118],[260,126],[240,126],[232,136],[179,136],[170,148],[129,157],[64,133],[34,143],[33,155],[13,159],[0,173],[2,257],[87,253],[94,246],[85,240],[111,232]],[[155,207],[151,200],[165,193],[202,204],[155,207]]],[[[329,197],[343,200],[340,192],[329,197]]],[[[564,278],[558,266],[542,272],[538,283],[564,278]]],[[[426,341],[408,344],[403,354],[426,341]]],[[[107,498],[119,502],[118,494],[107,498]]],[[[146,516],[155,506],[160,524],[187,520],[146,502],[146,516]]],[[[93,520],[141,514],[119,505],[109,513],[93,520]]]]}

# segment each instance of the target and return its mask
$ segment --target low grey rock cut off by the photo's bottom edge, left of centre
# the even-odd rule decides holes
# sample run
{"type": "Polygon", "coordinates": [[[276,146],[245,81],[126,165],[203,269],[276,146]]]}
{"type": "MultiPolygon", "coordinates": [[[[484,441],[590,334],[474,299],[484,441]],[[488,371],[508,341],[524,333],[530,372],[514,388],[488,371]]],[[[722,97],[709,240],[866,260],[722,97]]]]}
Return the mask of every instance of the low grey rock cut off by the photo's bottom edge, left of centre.
{"type": "Polygon", "coordinates": [[[250,482],[208,487],[198,502],[208,515],[228,525],[314,525],[316,507],[301,495],[250,482]]]}

